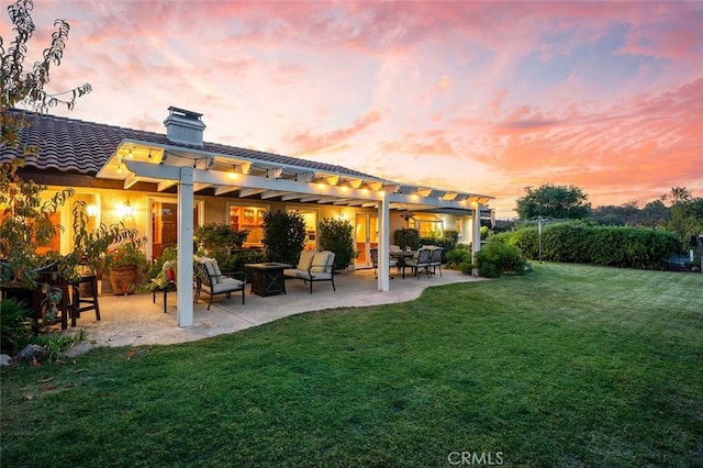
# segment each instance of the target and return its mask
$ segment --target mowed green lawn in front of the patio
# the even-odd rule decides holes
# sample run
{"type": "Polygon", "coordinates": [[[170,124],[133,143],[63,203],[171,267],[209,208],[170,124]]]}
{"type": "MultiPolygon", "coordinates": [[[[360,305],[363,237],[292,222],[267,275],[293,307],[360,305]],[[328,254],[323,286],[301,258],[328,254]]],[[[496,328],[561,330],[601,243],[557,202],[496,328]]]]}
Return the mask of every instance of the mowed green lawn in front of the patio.
{"type": "Polygon", "coordinates": [[[0,464],[703,466],[703,275],[534,268],[3,371],[0,464]]]}

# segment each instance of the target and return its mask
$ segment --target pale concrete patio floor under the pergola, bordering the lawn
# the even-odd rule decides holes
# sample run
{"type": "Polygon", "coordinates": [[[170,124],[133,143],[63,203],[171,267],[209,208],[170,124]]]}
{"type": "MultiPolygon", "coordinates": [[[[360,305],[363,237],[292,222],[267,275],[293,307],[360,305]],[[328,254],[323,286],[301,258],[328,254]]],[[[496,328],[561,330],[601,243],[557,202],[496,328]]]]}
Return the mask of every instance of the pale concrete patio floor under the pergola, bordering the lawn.
{"type": "Polygon", "coordinates": [[[402,279],[395,275],[390,291],[381,292],[377,290],[373,271],[367,269],[335,275],[336,291],[325,281],[315,283],[310,294],[309,286],[303,281],[289,279],[286,281],[287,294],[265,298],[250,294],[250,286],[247,285],[244,305],[239,293],[233,293],[230,300],[224,296],[215,296],[208,311],[208,296],[202,294],[200,302],[194,305],[194,323],[190,327],[177,325],[175,292],[168,293],[167,313],[164,313],[163,293],[156,294],[156,303],[152,302],[150,293],[101,296],[102,320],[97,321],[93,312],[83,312],[76,327],[69,327],[68,333],[85,328],[94,346],[185,343],[238,332],[302,312],[411,301],[432,286],[479,280],[482,279],[454,270],[443,270],[442,277],[421,276],[420,279],[402,279]]]}

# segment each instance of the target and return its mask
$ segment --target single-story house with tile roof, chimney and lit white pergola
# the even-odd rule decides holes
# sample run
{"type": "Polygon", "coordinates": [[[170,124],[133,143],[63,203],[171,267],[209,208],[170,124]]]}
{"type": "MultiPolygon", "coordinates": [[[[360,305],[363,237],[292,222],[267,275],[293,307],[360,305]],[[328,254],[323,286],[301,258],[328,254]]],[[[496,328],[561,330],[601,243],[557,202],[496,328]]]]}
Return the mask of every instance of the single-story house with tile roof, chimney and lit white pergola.
{"type": "MultiPolygon", "coordinates": [[[[266,211],[299,211],[305,219],[306,248],[316,248],[317,225],[346,216],[355,229],[356,267],[370,266],[369,249],[379,248],[378,289],[389,289],[383,261],[399,227],[421,234],[456,230],[462,243],[480,248],[480,219],[490,216],[492,197],[387,180],[362,171],[254,149],[208,143],[202,114],[169,108],[164,134],[80,120],[27,114],[23,143],[41,148],[21,170],[25,179],[51,188],[74,187],[91,225],[124,222],[148,238],[147,256],[156,258],[178,245],[178,323],[192,324],[193,226],[228,223],[250,232],[246,246],[261,242],[266,211]],[[177,243],[177,239],[183,242],[177,243]]],[[[15,157],[2,148],[0,160],[15,157]]],[[[71,226],[70,207],[57,223],[71,226]]],[[[70,248],[70,232],[53,246],[70,248]]]]}

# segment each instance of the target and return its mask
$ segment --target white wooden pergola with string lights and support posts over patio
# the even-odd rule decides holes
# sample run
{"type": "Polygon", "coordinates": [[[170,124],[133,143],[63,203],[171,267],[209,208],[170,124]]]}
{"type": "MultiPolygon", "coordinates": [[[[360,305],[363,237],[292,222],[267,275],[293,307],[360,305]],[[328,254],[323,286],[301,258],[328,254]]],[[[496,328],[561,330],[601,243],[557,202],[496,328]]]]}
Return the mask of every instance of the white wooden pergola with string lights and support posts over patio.
{"type": "Polygon", "coordinates": [[[97,175],[99,178],[124,180],[125,189],[142,181],[156,183],[158,191],[177,186],[177,320],[180,326],[193,324],[193,196],[200,190],[212,189],[215,196],[236,191],[239,198],[376,208],[380,291],[390,289],[391,209],[412,205],[413,211],[471,215],[472,248],[475,252],[480,248],[480,213],[493,197],[409,186],[342,167],[338,171],[320,170],[314,163],[302,159],[300,165],[280,164],[276,158],[267,160],[253,157],[256,154],[246,151],[239,153],[220,154],[193,146],[123,140],[97,175]]]}

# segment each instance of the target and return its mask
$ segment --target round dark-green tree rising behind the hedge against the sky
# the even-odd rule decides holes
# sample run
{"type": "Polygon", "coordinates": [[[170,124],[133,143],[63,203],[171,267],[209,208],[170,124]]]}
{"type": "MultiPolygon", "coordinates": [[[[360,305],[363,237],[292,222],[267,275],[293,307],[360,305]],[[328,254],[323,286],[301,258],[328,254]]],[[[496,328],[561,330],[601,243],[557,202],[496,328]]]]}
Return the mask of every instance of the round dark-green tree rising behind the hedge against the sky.
{"type": "Polygon", "coordinates": [[[576,186],[546,183],[537,189],[525,187],[524,197],[517,199],[517,214],[521,220],[532,218],[583,219],[591,212],[588,196],[576,186]]]}

